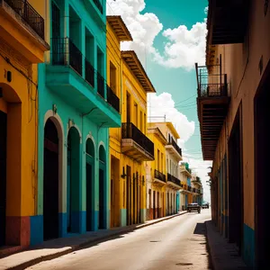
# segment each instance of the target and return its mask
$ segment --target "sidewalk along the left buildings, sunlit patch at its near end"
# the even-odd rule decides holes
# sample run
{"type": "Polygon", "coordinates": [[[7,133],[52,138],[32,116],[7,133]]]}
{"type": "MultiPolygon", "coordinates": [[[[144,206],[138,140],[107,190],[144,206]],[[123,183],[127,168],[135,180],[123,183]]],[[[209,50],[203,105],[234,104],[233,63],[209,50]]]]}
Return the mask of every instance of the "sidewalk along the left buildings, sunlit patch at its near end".
{"type": "Polygon", "coordinates": [[[9,257],[1,258],[0,270],[25,269],[26,267],[39,264],[42,261],[61,257],[67,253],[71,253],[88,245],[96,245],[99,242],[109,240],[110,238],[121,238],[121,234],[128,233],[135,229],[141,229],[163,220],[170,220],[177,216],[183,215],[184,213],[186,213],[186,211],[180,211],[175,215],[167,216],[157,220],[148,220],[143,224],[136,224],[113,229],[101,229],[69,238],[57,238],[45,241],[41,245],[32,247],[31,249],[16,253],[9,257]]]}

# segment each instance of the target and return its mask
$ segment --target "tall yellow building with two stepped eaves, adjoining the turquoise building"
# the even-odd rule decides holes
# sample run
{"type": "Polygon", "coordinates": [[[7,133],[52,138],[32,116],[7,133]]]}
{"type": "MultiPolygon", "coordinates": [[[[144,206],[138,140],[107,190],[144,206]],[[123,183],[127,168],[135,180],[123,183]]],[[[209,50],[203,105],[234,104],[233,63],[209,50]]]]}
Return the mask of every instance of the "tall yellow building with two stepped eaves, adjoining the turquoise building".
{"type": "Polygon", "coordinates": [[[154,159],[146,136],[147,93],[155,93],[134,51],[120,51],[131,40],[120,16],[107,17],[108,85],[121,100],[121,129],[110,129],[111,226],[145,220],[146,184],[143,162],[154,159]]]}

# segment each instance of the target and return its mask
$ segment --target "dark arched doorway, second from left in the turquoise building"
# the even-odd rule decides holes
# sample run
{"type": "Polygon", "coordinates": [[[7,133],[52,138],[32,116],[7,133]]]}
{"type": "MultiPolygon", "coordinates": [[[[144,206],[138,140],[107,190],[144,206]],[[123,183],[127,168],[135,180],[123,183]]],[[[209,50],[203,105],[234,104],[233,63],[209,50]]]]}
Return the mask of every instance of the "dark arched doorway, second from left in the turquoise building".
{"type": "Polygon", "coordinates": [[[79,232],[80,135],[75,127],[67,135],[67,232],[79,232]]]}

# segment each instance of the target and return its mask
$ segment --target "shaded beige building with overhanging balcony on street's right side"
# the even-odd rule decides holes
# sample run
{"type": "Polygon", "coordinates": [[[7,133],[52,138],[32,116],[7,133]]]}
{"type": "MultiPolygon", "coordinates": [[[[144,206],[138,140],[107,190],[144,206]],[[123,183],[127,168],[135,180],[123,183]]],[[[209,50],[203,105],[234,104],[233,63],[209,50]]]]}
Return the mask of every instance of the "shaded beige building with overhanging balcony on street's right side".
{"type": "Polygon", "coordinates": [[[213,160],[212,219],[247,266],[267,266],[270,131],[268,1],[211,1],[197,67],[202,153],[213,160]]]}

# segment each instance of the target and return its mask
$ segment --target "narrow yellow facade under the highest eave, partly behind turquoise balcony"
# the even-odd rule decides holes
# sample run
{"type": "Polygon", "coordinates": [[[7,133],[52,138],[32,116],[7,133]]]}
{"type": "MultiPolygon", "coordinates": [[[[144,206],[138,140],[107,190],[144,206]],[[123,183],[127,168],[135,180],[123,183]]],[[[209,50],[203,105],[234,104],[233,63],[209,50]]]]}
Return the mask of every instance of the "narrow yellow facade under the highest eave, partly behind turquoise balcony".
{"type": "MultiPolygon", "coordinates": [[[[121,41],[132,40],[130,31],[121,20],[121,16],[107,16],[107,88],[113,103],[117,105],[118,112],[123,112],[122,107],[122,58],[121,41]]],[[[126,223],[123,210],[123,177],[121,154],[121,129],[110,129],[110,178],[109,185],[111,205],[111,227],[120,227],[126,223]]],[[[125,166],[125,165],[124,165],[125,166]]]]}

